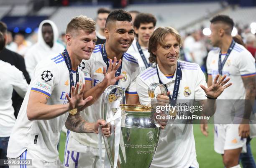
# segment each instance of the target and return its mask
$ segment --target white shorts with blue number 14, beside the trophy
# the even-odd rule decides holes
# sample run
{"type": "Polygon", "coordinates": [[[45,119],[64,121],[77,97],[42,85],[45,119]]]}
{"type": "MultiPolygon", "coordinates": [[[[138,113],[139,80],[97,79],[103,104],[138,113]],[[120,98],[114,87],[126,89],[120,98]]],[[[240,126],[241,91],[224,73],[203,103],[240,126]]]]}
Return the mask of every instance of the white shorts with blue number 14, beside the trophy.
{"type": "MultiPolygon", "coordinates": [[[[102,165],[104,165],[105,150],[102,149],[102,165]]],[[[66,149],[64,156],[65,168],[99,168],[100,157],[98,148],[85,146],[74,139],[73,136],[67,136],[66,149]]]]}

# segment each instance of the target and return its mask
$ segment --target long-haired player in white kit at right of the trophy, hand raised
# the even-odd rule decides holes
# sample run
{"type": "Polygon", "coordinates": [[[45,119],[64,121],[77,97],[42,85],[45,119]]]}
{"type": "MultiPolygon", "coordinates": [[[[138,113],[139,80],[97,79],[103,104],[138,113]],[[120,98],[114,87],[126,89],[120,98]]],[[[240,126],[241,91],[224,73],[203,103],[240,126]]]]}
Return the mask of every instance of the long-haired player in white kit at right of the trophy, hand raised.
{"type": "MultiPolygon", "coordinates": [[[[179,47],[182,44],[179,33],[172,27],[159,27],[150,37],[149,60],[154,63],[137,77],[137,92],[141,104],[148,105],[148,87],[151,83],[164,84],[169,96],[158,95],[157,99],[173,99],[187,103],[193,100],[207,104],[207,116],[215,109],[215,100],[231,84],[221,79],[206,88],[205,76],[198,64],[178,61],[179,47]],[[208,99],[207,99],[207,98],[208,99]],[[205,100],[206,99],[206,100],[205,100]],[[213,99],[213,100],[209,100],[213,99]]],[[[177,116],[185,116],[186,111],[177,111],[177,116]]],[[[156,149],[150,168],[198,168],[195,139],[192,124],[162,124],[159,146],[156,149]]]]}

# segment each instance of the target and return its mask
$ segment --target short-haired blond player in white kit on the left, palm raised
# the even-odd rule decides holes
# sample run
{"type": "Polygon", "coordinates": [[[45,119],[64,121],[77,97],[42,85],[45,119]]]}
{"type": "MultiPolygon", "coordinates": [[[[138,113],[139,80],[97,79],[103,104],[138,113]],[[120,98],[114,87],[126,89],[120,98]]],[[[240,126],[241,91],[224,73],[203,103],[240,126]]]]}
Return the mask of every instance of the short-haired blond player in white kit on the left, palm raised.
{"type": "MultiPolygon", "coordinates": [[[[66,29],[67,49],[36,66],[10,136],[7,152],[10,161],[32,159],[31,168],[63,167],[57,144],[65,122],[70,130],[83,133],[97,133],[98,126],[105,125],[104,120],[88,123],[79,115],[80,111],[97,100],[105,85],[120,79],[114,76],[120,64],[111,65],[108,73],[104,68],[105,78],[101,84],[84,91],[84,74],[78,66],[82,59],[90,58],[95,48],[95,25],[86,16],[74,17],[66,29]]],[[[106,126],[103,133],[108,135],[109,129],[106,126]]],[[[27,165],[10,168],[21,166],[27,165]]]]}

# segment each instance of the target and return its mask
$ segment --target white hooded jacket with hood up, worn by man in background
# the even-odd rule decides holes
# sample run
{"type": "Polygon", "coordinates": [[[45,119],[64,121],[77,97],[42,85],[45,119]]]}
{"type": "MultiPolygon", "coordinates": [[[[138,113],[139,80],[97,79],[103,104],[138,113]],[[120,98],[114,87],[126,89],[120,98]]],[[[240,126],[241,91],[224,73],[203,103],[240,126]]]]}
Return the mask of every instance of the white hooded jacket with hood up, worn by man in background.
{"type": "Polygon", "coordinates": [[[26,69],[31,79],[33,77],[33,70],[38,62],[45,59],[46,57],[49,57],[52,54],[61,53],[65,49],[62,44],[57,42],[58,37],[59,32],[54,22],[52,22],[51,20],[44,20],[40,23],[38,28],[38,41],[30,49],[28,49],[24,57],[26,69]],[[52,27],[54,34],[53,47],[50,47],[44,41],[42,35],[42,26],[44,25],[44,23],[49,23],[52,27]]]}

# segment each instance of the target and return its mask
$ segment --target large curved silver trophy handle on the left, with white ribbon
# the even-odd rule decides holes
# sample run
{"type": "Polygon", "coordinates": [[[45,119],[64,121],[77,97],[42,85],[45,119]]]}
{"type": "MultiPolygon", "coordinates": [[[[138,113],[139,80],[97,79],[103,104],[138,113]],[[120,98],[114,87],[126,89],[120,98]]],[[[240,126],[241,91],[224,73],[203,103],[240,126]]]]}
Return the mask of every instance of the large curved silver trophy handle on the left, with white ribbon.
{"type": "MultiPolygon", "coordinates": [[[[116,91],[117,95],[115,97],[115,101],[122,102],[123,97],[125,95],[125,92],[123,91],[123,89],[120,86],[110,85],[107,87],[107,89],[104,91],[104,93],[102,95],[102,104],[101,104],[102,119],[105,121],[107,120],[107,113],[108,113],[108,98],[114,89],[117,89],[117,91],[116,91]]],[[[112,109],[112,110],[115,111],[115,109],[112,109]]],[[[106,152],[108,154],[108,158],[110,161],[110,165],[112,166],[112,165],[114,165],[114,161],[111,157],[109,139],[108,139],[108,137],[105,137],[105,136],[103,136],[103,139],[104,139],[104,143],[105,143],[106,152]]]]}

